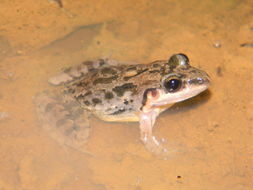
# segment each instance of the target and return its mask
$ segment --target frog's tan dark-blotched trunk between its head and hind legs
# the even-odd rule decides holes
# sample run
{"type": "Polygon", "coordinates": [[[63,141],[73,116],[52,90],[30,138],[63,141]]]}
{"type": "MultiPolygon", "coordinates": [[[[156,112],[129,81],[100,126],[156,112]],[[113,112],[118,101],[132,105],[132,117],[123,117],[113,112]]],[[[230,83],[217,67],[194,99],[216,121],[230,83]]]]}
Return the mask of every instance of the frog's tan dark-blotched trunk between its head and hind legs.
{"type": "Polygon", "coordinates": [[[112,65],[100,60],[98,67],[65,83],[64,92],[103,120],[137,121],[144,91],[159,85],[159,63],[112,65]]]}

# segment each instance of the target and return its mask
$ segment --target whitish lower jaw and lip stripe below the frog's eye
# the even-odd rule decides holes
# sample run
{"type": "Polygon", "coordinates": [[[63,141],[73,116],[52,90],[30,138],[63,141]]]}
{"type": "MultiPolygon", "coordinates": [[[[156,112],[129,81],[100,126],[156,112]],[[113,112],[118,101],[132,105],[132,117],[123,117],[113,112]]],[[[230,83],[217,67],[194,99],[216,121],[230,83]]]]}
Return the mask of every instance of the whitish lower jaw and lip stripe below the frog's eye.
{"type": "Polygon", "coordinates": [[[160,98],[151,102],[151,105],[162,106],[166,104],[181,102],[200,94],[201,92],[205,91],[207,88],[208,86],[203,85],[203,86],[198,86],[194,88],[188,88],[183,91],[175,92],[175,93],[165,93],[164,91],[159,90],[160,98]]]}

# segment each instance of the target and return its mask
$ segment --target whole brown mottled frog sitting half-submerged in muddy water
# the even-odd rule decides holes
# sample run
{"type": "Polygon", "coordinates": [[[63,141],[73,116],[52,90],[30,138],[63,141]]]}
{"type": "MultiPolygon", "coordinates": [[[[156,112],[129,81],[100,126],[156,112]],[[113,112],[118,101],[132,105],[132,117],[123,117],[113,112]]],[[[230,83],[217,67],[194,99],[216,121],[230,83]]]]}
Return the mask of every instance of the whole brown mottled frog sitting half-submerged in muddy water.
{"type": "MultiPolygon", "coordinates": [[[[89,139],[90,115],[108,122],[139,122],[140,140],[152,153],[167,149],[153,135],[157,117],[177,102],[208,89],[209,75],[183,53],[151,63],[84,61],[48,80],[56,92],[36,97],[42,126],[61,144],[80,148],[89,139]]],[[[123,135],[123,134],[122,134],[123,135]]]]}

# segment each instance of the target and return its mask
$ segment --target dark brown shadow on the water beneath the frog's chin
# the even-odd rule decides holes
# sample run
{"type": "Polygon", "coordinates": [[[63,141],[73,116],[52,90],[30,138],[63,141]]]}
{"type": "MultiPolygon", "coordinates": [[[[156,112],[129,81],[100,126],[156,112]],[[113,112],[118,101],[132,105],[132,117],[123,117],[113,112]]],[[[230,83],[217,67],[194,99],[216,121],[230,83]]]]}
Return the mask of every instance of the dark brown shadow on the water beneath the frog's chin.
{"type": "Polygon", "coordinates": [[[193,98],[190,98],[188,100],[185,100],[183,102],[179,102],[174,104],[170,109],[166,110],[163,114],[177,114],[182,112],[187,112],[191,109],[196,109],[197,107],[205,104],[208,102],[208,100],[211,98],[212,93],[210,90],[206,90],[199,94],[198,96],[195,96],[193,98]]]}

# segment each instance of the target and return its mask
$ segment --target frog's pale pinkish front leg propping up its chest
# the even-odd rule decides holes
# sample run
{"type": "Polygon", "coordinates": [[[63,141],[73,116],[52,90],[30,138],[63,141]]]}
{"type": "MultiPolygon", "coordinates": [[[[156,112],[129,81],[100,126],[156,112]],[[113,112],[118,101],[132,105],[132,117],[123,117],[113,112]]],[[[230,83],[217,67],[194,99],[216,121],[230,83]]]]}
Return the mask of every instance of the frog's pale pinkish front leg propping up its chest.
{"type": "Polygon", "coordinates": [[[151,105],[152,100],[156,99],[158,95],[156,90],[150,90],[147,92],[147,99],[145,105],[143,105],[141,113],[139,115],[140,119],[140,133],[141,140],[145,144],[146,148],[155,154],[160,154],[167,152],[159,141],[153,136],[152,129],[155,124],[155,120],[161,109],[158,107],[153,107],[151,105]]]}

